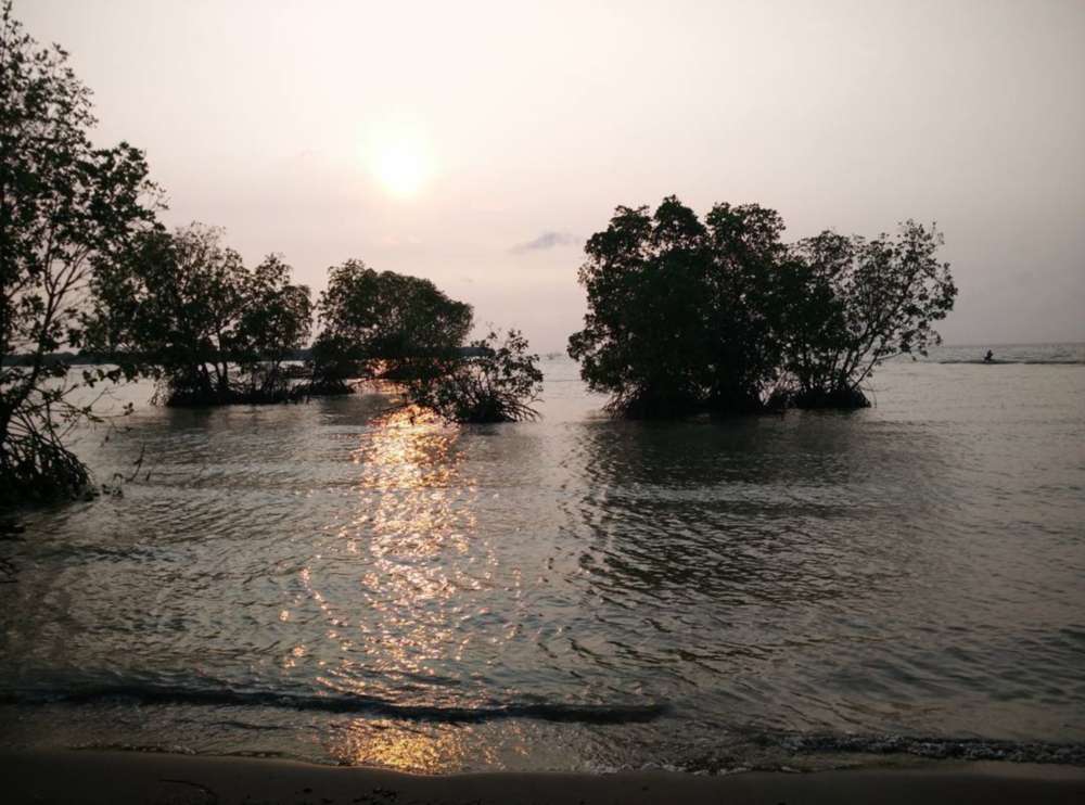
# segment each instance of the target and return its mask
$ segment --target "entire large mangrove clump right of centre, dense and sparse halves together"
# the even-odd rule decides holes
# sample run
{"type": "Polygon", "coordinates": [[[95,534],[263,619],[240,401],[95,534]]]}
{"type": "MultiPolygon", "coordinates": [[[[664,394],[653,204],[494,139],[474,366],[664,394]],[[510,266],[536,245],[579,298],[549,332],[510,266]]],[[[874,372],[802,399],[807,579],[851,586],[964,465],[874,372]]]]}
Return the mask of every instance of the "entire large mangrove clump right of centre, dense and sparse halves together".
{"type": "Polygon", "coordinates": [[[676,197],[618,207],[585,247],[584,329],[569,353],[610,408],[634,417],[866,405],[882,360],[937,342],[956,289],[941,235],[824,232],[786,244],[756,204],[716,204],[702,222],[676,197]]]}

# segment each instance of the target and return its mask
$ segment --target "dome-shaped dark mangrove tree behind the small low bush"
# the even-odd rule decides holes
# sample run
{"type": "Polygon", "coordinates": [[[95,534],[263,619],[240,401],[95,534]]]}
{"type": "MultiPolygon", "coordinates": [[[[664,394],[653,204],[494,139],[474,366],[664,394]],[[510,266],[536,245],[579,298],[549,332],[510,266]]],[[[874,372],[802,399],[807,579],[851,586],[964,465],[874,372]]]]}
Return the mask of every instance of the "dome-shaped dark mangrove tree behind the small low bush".
{"type": "Polygon", "coordinates": [[[349,391],[350,379],[409,376],[460,347],[471,306],[429,280],[378,272],[361,260],[329,269],[320,295],[322,330],[312,346],[312,392],[349,391]],[[421,366],[418,366],[421,365],[421,366]]]}

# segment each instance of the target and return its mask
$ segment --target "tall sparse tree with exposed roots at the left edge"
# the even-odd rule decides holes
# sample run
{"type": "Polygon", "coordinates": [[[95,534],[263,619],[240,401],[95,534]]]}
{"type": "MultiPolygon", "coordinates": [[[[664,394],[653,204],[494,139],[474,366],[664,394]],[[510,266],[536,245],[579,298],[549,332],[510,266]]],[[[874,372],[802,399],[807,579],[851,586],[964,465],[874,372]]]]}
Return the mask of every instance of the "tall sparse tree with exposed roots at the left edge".
{"type": "Polygon", "coordinates": [[[0,7],[0,498],[76,494],[88,474],[64,447],[94,418],[73,392],[105,370],[69,376],[60,347],[84,342],[88,284],[154,219],[142,152],[97,149],[90,90],[67,53],[39,49],[0,7]],[[10,361],[13,355],[22,356],[10,361]]]}

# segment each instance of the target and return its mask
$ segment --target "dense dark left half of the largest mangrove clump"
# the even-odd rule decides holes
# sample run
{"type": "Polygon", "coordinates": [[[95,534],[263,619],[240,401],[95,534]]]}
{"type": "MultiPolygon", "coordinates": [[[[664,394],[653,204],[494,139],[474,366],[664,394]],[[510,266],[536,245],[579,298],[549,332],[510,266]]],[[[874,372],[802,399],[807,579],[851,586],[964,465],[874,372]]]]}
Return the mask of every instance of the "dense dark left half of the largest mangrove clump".
{"type": "Polygon", "coordinates": [[[757,409],[777,371],[771,312],[782,222],[717,205],[707,226],[669,196],[618,207],[585,247],[584,330],[569,354],[610,408],[634,417],[757,409]]]}

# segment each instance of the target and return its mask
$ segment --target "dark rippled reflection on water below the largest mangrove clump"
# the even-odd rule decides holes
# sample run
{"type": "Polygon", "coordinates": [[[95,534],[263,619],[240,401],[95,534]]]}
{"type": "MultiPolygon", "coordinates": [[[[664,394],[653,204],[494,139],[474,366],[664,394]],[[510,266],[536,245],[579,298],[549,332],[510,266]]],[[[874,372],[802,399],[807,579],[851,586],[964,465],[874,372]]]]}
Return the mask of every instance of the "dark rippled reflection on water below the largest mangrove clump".
{"type": "Polygon", "coordinates": [[[601,593],[736,605],[893,584],[937,503],[939,444],[852,414],[595,422],[569,528],[601,593]]]}

